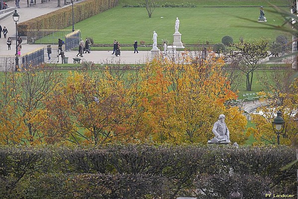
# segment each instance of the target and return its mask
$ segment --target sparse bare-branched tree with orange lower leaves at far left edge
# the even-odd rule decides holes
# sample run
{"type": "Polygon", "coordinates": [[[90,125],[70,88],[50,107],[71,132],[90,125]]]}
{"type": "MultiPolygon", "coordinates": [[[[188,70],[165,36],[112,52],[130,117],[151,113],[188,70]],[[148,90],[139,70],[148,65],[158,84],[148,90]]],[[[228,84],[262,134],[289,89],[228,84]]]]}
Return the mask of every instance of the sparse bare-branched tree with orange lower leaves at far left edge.
{"type": "Polygon", "coordinates": [[[47,116],[43,100],[49,97],[61,79],[59,74],[42,67],[4,75],[0,108],[5,113],[1,123],[5,126],[2,136],[6,136],[7,144],[27,145],[44,141],[42,122],[47,116]]]}

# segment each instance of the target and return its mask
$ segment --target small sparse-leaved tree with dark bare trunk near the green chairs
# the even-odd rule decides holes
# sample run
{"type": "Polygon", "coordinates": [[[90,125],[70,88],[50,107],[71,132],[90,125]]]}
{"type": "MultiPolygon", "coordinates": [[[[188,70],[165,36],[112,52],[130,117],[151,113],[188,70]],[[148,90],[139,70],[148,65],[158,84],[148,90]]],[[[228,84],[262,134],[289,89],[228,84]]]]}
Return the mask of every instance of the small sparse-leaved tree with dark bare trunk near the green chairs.
{"type": "Polygon", "coordinates": [[[268,41],[265,39],[235,43],[235,51],[226,54],[226,61],[234,65],[246,77],[246,90],[251,91],[255,70],[258,69],[260,61],[267,57],[268,41]]]}

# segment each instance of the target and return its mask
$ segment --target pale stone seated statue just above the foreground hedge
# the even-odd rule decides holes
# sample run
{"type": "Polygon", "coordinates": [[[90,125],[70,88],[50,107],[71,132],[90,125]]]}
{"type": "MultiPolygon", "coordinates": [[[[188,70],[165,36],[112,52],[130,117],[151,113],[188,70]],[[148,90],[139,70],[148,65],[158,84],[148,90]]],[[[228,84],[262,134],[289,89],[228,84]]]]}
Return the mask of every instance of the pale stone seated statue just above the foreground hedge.
{"type": "Polygon", "coordinates": [[[228,144],[230,143],[230,131],[226,126],[225,115],[220,114],[218,120],[214,123],[212,128],[212,133],[215,135],[211,140],[208,141],[208,144],[228,144]]]}

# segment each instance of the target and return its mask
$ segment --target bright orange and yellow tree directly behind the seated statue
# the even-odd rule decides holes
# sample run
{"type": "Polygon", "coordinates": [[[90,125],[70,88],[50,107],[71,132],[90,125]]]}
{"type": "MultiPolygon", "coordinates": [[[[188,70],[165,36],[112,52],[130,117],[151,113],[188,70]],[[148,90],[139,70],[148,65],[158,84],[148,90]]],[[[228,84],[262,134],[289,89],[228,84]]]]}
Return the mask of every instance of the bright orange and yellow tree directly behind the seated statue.
{"type": "Polygon", "coordinates": [[[202,59],[187,52],[176,61],[158,59],[146,67],[145,121],[150,122],[147,130],[154,142],[206,143],[220,113],[230,117],[232,140],[244,142],[245,118],[238,109],[223,105],[236,94],[230,90],[222,67],[223,61],[214,54],[202,59]]]}

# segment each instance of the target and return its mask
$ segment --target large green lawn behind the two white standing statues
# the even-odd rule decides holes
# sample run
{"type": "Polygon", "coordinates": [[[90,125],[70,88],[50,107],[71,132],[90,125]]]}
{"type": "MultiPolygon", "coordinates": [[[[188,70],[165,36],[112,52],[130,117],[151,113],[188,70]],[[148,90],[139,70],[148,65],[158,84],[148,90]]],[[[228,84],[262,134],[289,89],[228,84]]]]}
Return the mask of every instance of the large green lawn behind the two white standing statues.
{"type": "MultiPolygon", "coordinates": [[[[193,0],[193,2],[196,2],[197,7],[157,7],[152,18],[149,18],[145,8],[121,7],[121,4],[137,4],[137,1],[120,0],[117,7],[78,22],[75,24],[75,28],[81,29],[83,38],[93,37],[95,43],[110,44],[116,39],[120,44],[131,45],[134,40],[143,40],[146,44],[151,44],[154,30],[158,34],[158,44],[161,44],[163,39],[172,43],[176,17],[180,19],[179,31],[182,33],[182,41],[186,44],[205,44],[207,41],[217,43],[221,42],[221,38],[225,35],[232,36],[235,42],[238,41],[239,37],[247,40],[260,37],[275,40],[277,35],[283,34],[277,30],[260,29],[264,23],[249,22],[239,18],[246,17],[257,21],[260,12],[259,6],[263,5],[268,19],[267,23],[282,24],[283,18],[281,16],[266,12],[270,8],[265,0],[193,0]],[[240,5],[246,7],[235,7],[240,5]],[[243,26],[255,26],[256,28],[243,26]]],[[[272,2],[287,5],[287,1],[284,3],[281,0],[272,2]]]]}

